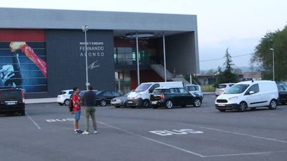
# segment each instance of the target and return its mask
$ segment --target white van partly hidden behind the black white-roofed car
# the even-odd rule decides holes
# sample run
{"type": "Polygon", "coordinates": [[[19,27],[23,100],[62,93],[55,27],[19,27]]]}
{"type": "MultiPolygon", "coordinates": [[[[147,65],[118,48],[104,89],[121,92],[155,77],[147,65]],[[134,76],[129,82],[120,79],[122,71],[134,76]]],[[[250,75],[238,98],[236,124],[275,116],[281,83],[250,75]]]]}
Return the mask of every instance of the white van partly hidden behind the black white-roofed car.
{"type": "Polygon", "coordinates": [[[147,82],[141,83],[128,95],[127,107],[149,107],[150,94],[158,87],[183,87],[182,82],[147,82]]]}

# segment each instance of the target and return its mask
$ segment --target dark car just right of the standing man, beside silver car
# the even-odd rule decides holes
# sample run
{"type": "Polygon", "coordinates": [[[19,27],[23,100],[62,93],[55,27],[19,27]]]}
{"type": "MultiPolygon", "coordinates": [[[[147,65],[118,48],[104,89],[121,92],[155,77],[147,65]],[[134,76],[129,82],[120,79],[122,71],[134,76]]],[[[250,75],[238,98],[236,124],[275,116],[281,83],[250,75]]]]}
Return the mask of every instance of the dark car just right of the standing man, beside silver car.
{"type": "Polygon", "coordinates": [[[113,98],[120,96],[121,94],[116,91],[99,91],[96,94],[96,104],[106,106],[111,103],[113,98]]]}

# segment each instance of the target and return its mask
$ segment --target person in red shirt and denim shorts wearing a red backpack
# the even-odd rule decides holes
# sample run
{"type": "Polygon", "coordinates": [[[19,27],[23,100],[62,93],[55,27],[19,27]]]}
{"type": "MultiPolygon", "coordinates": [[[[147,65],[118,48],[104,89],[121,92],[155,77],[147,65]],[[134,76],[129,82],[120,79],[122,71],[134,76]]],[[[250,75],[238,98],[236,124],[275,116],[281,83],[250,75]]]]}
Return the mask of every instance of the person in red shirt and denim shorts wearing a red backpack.
{"type": "Polygon", "coordinates": [[[81,116],[81,99],[79,98],[78,94],[79,94],[79,88],[78,87],[74,87],[73,88],[74,91],[74,95],[73,95],[73,105],[74,105],[74,115],[75,115],[75,121],[74,121],[74,133],[75,134],[80,134],[83,133],[80,129],[79,129],[79,120],[80,120],[80,116],[81,116]]]}

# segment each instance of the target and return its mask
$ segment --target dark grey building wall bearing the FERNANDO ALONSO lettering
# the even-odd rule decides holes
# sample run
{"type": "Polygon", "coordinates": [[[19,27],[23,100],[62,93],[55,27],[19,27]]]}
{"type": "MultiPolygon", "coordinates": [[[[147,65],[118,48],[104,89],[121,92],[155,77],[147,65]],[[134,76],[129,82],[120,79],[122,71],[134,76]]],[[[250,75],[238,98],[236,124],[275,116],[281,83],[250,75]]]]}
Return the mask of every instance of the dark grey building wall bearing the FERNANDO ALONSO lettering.
{"type": "MultiPolygon", "coordinates": [[[[74,86],[85,89],[85,45],[81,30],[47,29],[47,92],[27,93],[27,98],[56,97],[59,91],[74,86]],[[82,53],[82,54],[81,54],[82,53]]],[[[111,30],[88,30],[89,82],[97,90],[115,89],[115,67],[113,57],[113,32],[111,30]],[[96,45],[96,43],[103,43],[96,45]],[[90,53],[90,54],[89,54],[90,53]]]]}

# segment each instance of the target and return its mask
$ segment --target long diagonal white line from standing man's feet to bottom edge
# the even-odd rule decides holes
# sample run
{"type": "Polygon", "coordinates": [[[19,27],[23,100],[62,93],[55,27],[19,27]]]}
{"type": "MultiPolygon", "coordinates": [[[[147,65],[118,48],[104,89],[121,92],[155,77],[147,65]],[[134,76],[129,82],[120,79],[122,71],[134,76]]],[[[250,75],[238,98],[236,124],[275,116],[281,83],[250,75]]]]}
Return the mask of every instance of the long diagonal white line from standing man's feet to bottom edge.
{"type": "Polygon", "coordinates": [[[167,147],[171,147],[171,148],[177,149],[177,150],[179,150],[179,151],[183,151],[183,152],[186,152],[186,153],[189,153],[189,154],[193,154],[193,155],[196,155],[196,156],[199,156],[199,157],[205,157],[205,156],[200,155],[200,154],[198,154],[198,153],[194,153],[194,152],[191,152],[191,151],[188,151],[188,150],[185,150],[185,149],[182,149],[182,148],[179,148],[179,147],[170,145],[170,144],[166,144],[166,143],[163,143],[163,142],[160,142],[160,141],[156,141],[156,140],[154,140],[154,139],[150,139],[150,138],[147,138],[147,137],[138,135],[138,134],[134,134],[134,133],[132,133],[132,132],[129,132],[129,131],[126,131],[126,130],[123,130],[123,129],[114,127],[114,126],[112,126],[112,125],[109,125],[109,124],[106,124],[106,123],[103,123],[103,122],[99,122],[99,121],[97,121],[97,122],[100,123],[100,124],[106,125],[106,126],[108,126],[108,127],[111,127],[111,128],[113,128],[113,129],[117,129],[117,130],[119,130],[119,131],[122,131],[122,132],[125,132],[125,133],[128,133],[128,134],[131,134],[131,135],[133,135],[133,136],[137,136],[137,137],[140,137],[140,138],[143,138],[143,139],[146,139],[146,140],[149,140],[149,141],[152,141],[152,142],[155,142],[155,143],[158,143],[158,144],[167,146],[167,147]]]}

